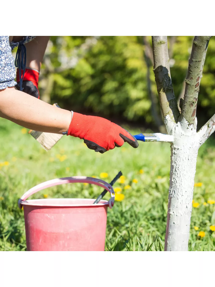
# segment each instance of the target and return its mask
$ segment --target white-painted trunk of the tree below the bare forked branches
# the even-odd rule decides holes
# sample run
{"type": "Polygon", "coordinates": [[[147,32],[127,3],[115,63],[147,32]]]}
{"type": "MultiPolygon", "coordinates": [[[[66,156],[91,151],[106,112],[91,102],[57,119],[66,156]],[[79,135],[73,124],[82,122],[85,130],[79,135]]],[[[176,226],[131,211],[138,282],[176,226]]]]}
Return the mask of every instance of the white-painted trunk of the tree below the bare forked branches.
{"type": "Polygon", "coordinates": [[[168,117],[165,123],[174,142],[171,144],[165,251],[187,251],[200,135],[196,133],[196,123],[189,125],[183,119],[172,124],[168,117]]]}

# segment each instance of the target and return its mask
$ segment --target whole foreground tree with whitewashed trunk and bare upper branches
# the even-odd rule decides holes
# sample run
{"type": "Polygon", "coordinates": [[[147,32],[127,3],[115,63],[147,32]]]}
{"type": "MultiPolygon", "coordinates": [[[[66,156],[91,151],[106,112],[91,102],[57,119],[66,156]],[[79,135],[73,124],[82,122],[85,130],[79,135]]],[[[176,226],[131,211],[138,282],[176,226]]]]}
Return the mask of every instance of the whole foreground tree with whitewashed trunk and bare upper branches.
{"type": "Polygon", "coordinates": [[[187,251],[198,149],[215,130],[215,115],[196,132],[196,106],[211,36],[195,36],[181,115],[172,87],[167,36],[152,36],[154,72],[161,110],[171,144],[171,168],[165,251],[187,251]]]}

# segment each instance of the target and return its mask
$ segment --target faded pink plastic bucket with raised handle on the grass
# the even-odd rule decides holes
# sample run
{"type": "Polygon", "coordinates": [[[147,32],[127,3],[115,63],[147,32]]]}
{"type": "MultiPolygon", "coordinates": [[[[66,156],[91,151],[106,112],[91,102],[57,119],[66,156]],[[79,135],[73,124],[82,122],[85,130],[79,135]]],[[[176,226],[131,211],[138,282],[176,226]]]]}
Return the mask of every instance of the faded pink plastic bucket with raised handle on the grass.
{"type": "Polygon", "coordinates": [[[66,177],[29,189],[18,201],[24,208],[27,251],[104,251],[107,208],[114,205],[113,187],[92,177],[66,177]],[[110,192],[109,201],[95,199],[31,199],[30,195],[64,183],[90,183],[110,192]]]}

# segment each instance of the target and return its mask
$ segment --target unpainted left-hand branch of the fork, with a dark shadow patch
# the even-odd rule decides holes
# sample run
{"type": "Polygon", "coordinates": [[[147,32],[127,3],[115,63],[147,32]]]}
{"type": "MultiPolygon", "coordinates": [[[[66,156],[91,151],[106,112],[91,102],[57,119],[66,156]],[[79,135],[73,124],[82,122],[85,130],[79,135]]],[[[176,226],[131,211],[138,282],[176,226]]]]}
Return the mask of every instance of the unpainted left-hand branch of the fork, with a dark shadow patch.
{"type": "Polygon", "coordinates": [[[167,36],[152,36],[152,46],[155,82],[163,117],[169,115],[171,120],[177,123],[180,113],[170,76],[167,36]]]}

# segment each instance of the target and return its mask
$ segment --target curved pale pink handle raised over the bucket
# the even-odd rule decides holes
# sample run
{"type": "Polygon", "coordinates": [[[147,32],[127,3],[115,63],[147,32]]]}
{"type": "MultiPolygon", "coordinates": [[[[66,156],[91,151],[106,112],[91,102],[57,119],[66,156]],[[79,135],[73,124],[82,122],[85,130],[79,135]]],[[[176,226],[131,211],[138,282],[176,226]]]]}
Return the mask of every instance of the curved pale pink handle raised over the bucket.
{"type": "Polygon", "coordinates": [[[40,184],[32,187],[28,191],[26,191],[26,193],[24,193],[24,195],[22,195],[22,197],[18,200],[19,208],[20,209],[22,208],[21,203],[23,201],[25,201],[32,194],[34,194],[34,193],[36,193],[42,189],[45,189],[47,187],[51,187],[54,185],[60,185],[60,184],[64,184],[64,183],[90,183],[90,184],[95,184],[95,185],[98,185],[100,187],[103,187],[104,189],[109,191],[110,195],[111,195],[111,198],[109,199],[109,207],[112,208],[114,206],[114,199],[115,199],[114,189],[106,181],[103,181],[102,179],[96,179],[94,177],[63,177],[60,179],[52,179],[49,181],[45,181],[43,183],[40,183],[40,184]]]}

